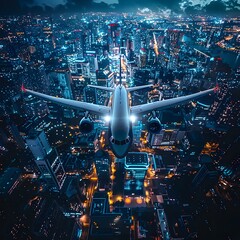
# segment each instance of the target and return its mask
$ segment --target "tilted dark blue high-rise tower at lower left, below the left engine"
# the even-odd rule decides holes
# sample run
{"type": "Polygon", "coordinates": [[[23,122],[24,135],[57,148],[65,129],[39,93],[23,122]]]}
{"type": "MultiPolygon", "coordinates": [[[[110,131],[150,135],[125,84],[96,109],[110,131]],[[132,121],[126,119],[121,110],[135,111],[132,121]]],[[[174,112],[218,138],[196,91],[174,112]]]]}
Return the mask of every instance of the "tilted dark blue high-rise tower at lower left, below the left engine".
{"type": "Polygon", "coordinates": [[[56,149],[49,145],[44,131],[30,132],[26,143],[47,185],[54,190],[61,189],[66,178],[65,170],[56,149]]]}

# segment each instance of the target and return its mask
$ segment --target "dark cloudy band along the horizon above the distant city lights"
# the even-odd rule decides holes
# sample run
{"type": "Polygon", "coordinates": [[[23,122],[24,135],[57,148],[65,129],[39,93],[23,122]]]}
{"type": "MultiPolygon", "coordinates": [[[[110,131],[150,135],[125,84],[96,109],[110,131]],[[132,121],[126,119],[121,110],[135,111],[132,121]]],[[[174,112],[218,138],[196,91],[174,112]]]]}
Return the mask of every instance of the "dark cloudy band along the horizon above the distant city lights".
{"type": "Polygon", "coordinates": [[[119,0],[119,3],[107,4],[104,1],[94,0],[66,0],[65,4],[59,0],[50,4],[38,2],[37,0],[4,0],[0,15],[18,14],[44,14],[44,13],[66,13],[66,12],[135,12],[139,9],[150,11],[170,10],[176,14],[200,14],[212,16],[238,16],[240,13],[240,2],[237,0],[210,1],[205,5],[193,4],[191,1],[183,0],[119,0]]]}

